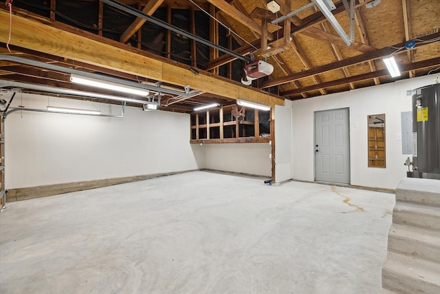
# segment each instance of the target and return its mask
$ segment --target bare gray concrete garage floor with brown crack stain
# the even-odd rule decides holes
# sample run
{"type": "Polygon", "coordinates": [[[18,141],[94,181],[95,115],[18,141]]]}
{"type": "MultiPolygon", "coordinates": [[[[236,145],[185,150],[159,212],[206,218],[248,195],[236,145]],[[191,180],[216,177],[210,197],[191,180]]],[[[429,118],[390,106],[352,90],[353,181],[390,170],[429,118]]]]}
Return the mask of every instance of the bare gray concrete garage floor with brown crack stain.
{"type": "Polygon", "coordinates": [[[12,202],[0,293],[381,293],[394,203],[203,171],[12,202]]]}

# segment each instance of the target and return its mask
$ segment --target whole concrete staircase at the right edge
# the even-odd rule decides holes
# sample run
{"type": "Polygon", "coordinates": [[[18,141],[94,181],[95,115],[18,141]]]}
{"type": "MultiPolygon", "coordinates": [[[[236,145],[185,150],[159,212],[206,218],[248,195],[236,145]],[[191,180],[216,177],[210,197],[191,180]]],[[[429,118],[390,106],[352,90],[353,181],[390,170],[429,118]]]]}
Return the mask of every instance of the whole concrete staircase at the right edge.
{"type": "Polygon", "coordinates": [[[395,191],[383,293],[440,293],[440,180],[404,178],[395,191]]]}

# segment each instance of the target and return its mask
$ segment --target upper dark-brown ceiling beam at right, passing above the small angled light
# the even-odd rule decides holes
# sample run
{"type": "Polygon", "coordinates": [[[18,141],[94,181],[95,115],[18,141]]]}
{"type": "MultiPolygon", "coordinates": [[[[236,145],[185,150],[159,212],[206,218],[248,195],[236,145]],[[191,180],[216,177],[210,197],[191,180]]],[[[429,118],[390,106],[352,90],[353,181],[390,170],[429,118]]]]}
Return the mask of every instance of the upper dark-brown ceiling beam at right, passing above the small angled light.
{"type": "MultiPolygon", "coordinates": [[[[440,36],[440,32],[434,33],[434,34],[428,34],[426,36],[421,36],[419,39],[421,39],[422,41],[428,41],[430,39],[434,39],[434,38],[438,38],[440,36]]],[[[439,41],[436,41],[439,42],[439,41]]],[[[398,43],[389,47],[385,47],[379,50],[375,50],[373,52],[368,52],[368,53],[364,53],[364,54],[360,54],[358,56],[353,56],[349,59],[344,59],[342,61],[336,61],[335,63],[329,63],[326,65],[321,65],[319,67],[315,67],[312,68],[311,70],[305,70],[303,72],[297,72],[296,74],[292,74],[292,76],[285,76],[283,78],[275,78],[272,81],[265,81],[263,83],[261,83],[261,87],[265,88],[265,87],[272,87],[274,85],[281,85],[284,83],[289,83],[292,81],[296,81],[299,80],[300,78],[306,78],[308,76],[314,76],[316,74],[322,74],[324,72],[331,72],[332,70],[339,70],[342,67],[347,67],[349,65],[355,65],[358,63],[362,63],[362,62],[366,62],[366,61],[371,61],[374,59],[380,59],[386,55],[392,54],[393,52],[395,52],[395,48],[402,48],[405,46],[405,43],[398,43]]],[[[434,42],[432,42],[434,43],[434,42]]],[[[420,48],[424,45],[428,45],[428,44],[432,44],[432,43],[418,43],[416,46],[417,48],[420,48]]]]}

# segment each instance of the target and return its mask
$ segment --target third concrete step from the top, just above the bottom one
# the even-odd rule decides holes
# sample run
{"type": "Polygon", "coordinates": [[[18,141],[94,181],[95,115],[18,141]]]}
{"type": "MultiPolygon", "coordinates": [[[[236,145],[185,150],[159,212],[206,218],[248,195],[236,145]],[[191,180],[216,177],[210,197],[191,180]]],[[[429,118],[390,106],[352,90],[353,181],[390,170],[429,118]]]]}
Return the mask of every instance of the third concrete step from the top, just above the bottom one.
{"type": "Polygon", "coordinates": [[[392,224],[388,250],[440,263],[440,231],[392,224]]]}

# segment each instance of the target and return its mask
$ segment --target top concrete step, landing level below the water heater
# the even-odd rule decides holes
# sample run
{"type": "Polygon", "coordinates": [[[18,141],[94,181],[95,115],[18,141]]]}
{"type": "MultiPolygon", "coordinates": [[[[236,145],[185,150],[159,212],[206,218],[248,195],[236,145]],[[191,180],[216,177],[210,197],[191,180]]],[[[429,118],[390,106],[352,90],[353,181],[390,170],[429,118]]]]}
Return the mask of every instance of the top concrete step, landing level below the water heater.
{"type": "Polygon", "coordinates": [[[403,178],[397,185],[396,202],[405,201],[440,207],[440,180],[403,178]]]}

